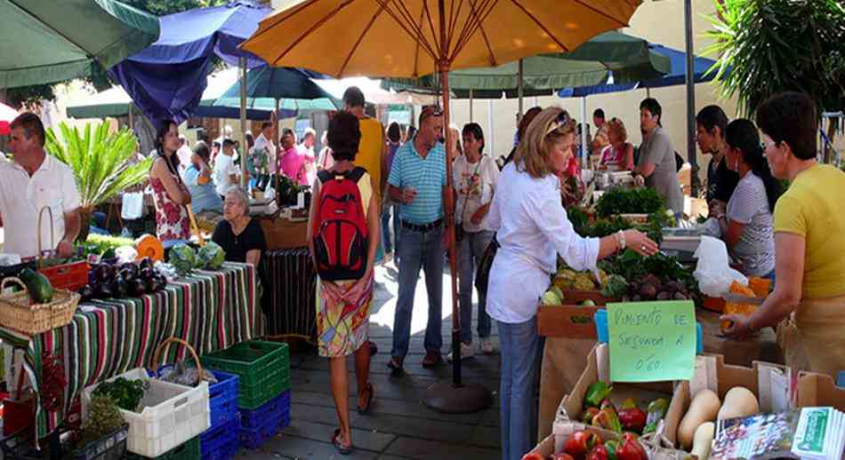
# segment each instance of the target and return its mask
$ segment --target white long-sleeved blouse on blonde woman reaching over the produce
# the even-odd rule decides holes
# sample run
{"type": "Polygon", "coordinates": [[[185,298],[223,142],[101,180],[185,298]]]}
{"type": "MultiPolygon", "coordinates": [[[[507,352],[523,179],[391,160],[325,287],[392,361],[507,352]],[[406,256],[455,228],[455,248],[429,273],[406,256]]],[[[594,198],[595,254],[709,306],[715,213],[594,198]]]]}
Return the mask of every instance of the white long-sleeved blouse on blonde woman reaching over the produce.
{"type": "Polygon", "coordinates": [[[496,321],[519,323],[534,317],[558,254],[575,270],[596,269],[599,239],[575,234],[553,175],[532,178],[508,163],[499,176],[487,225],[501,245],[487,286],[487,313],[496,321]]]}

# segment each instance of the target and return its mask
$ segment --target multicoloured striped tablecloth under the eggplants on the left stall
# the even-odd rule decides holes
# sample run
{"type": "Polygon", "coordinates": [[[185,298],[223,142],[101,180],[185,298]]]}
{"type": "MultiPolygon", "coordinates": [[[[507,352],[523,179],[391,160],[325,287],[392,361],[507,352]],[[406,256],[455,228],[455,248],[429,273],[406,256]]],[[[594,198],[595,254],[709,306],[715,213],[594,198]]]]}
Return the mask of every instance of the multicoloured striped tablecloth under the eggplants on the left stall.
{"type": "MultiPolygon", "coordinates": [[[[264,318],[255,289],[253,266],[227,262],[220,271],[194,272],[153,295],[80,304],[67,326],[36,337],[0,328],[0,338],[27,350],[24,369],[36,392],[42,351],[61,356],[68,377],[67,413],[85,386],[128,369],[151,367],[165,338],[180,337],[205,354],[261,337],[264,318]]],[[[163,361],[181,361],[186,355],[183,347],[171,345],[163,361]]],[[[47,414],[40,403],[37,407],[40,438],[60,422],[61,414],[47,414]]]]}

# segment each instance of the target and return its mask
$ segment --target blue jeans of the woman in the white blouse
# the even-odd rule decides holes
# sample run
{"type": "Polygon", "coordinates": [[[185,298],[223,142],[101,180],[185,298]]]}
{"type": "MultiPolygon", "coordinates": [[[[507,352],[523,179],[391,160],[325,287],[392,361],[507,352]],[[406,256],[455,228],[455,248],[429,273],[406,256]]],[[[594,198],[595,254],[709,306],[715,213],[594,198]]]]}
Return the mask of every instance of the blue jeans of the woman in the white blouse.
{"type": "Polygon", "coordinates": [[[537,423],[535,380],[540,351],[537,317],[516,324],[496,322],[502,345],[499,385],[502,460],[519,460],[535,445],[531,427],[537,423]]]}

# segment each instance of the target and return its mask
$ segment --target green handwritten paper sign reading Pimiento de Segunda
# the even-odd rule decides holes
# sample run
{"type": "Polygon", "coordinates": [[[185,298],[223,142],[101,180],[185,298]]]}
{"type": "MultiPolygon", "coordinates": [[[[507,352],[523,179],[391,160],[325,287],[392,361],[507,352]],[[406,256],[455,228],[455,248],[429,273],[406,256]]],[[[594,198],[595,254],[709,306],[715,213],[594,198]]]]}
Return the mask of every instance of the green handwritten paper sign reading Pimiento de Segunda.
{"type": "Polygon", "coordinates": [[[608,335],[612,381],[692,378],[696,362],[692,301],[608,304],[608,335]]]}

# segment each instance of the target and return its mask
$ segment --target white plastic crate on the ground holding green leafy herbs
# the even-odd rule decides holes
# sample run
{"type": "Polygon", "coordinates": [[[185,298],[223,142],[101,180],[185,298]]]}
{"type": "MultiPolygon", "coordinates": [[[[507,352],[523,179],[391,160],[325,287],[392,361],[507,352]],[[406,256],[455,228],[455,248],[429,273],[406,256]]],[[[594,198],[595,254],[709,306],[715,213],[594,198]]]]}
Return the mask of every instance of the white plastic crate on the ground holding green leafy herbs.
{"type": "MultiPolygon", "coordinates": [[[[141,399],[141,412],[120,409],[129,424],[126,448],[133,454],[160,456],[211,427],[208,382],[202,382],[196,388],[176,385],[150,378],[141,368],[126,371],[107,381],[117,377],[149,382],[149,388],[141,399]]],[[[82,391],[83,420],[96,387],[91,385],[82,391]]]]}

